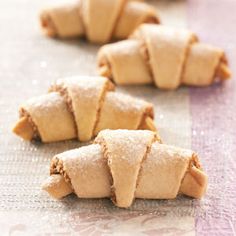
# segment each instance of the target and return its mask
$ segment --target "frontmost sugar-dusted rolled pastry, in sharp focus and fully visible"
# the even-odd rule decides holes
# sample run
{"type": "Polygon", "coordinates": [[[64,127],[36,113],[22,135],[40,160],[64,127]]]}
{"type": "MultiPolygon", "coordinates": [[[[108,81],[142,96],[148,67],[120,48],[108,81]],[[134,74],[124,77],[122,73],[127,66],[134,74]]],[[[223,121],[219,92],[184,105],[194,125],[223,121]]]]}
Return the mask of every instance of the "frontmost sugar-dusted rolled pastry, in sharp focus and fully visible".
{"type": "Polygon", "coordinates": [[[110,197],[118,207],[135,198],[201,198],[207,176],[197,154],[159,141],[148,130],[103,130],[93,144],[54,156],[42,188],[56,199],[110,197]]]}

